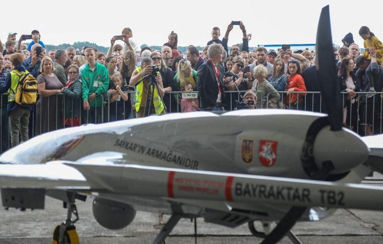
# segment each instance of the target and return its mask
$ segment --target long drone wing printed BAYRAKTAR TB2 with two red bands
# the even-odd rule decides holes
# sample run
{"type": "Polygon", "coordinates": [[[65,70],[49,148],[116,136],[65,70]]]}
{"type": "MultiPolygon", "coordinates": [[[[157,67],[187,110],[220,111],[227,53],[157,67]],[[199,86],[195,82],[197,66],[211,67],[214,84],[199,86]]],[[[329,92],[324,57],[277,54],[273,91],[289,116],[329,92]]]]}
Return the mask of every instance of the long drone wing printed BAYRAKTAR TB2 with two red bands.
{"type": "Polygon", "coordinates": [[[383,187],[131,164],[0,165],[1,188],[96,190],[169,200],[383,210],[383,187]]]}

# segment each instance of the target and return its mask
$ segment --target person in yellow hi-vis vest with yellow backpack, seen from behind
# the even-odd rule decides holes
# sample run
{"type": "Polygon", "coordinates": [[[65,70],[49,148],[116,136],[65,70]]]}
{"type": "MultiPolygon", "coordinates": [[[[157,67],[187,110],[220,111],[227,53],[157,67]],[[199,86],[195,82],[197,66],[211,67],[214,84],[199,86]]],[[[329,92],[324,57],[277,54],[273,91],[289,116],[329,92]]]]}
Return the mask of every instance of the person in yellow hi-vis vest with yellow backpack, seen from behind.
{"type": "Polygon", "coordinates": [[[28,124],[30,113],[37,99],[37,81],[22,66],[24,57],[20,53],[10,56],[10,62],[15,67],[0,85],[0,93],[8,92],[8,117],[10,143],[14,147],[19,144],[19,132],[21,140],[28,140],[28,124]]]}

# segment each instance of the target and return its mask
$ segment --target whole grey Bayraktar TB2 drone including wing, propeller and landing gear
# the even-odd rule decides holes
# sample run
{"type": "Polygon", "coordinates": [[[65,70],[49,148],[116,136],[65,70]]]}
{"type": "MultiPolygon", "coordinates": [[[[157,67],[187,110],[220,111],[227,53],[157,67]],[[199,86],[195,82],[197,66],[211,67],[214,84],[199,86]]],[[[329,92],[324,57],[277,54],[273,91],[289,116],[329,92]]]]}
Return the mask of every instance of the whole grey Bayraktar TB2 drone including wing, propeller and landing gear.
{"type": "Polygon", "coordinates": [[[320,220],[335,208],[383,210],[383,187],[359,184],[371,170],[383,172],[383,135],[361,138],[342,127],[328,6],[319,20],[317,58],[328,116],[197,112],[45,133],[0,156],[2,204],[39,209],[45,195],[62,200],[67,220],[53,243],[72,244],[75,200],[87,195],[95,196],[94,216],[108,229],[129,225],[136,210],[170,214],[154,244],[181,218],[248,223],[265,244],[285,235],[298,243],[290,232],[296,221],[320,220]],[[278,225],[269,231],[271,222],[278,225]]]}

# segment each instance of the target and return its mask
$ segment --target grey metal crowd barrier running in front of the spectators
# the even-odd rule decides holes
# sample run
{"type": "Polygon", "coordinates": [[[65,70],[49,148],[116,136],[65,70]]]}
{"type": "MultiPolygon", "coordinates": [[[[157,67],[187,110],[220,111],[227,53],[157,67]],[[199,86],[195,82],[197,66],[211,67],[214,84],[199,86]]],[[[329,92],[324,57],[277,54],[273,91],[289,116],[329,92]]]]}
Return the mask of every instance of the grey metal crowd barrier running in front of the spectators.
{"type": "MultiPolygon", "coordinates": [[[[243,96],[247,91],[225,91],[226,96],[229,96],[230,104],[226,105],[228,110],[234,110],[235,104],[233,101],[241,100],[240,94],[243,96]]],[[[125,92],[134,96],[135,92],[125,92]]],[[[167,92],[163,98],[164,103],[167,105],[168,113],[180,113],[180,100],[183,93],[187,92],[167,92]],[[177,95],[177,97],[175,97],[177,95]]],[[[260,103],[262,106],[257,109],[268,109],[270,108],[270,98],[276,92],[271,92],[267,94],[266,97],[262,97],[259,92],[254,92],[258,99],[261,99],[260,103]]],[[[287,105],[283,103],[286,99],[287,92],[278,92],[281,96],[277,108],[279,109],[294,109],[294,110],[303,110],[303,111],[312,111],[312,112],[323,112],[326,113],[325,108],[322,106],[322,98],[320,92],[292,92],[291,94],[297,95],[297,100],[302,98],[300,106],[293,106],[291,104],[287,105]]],[[[348,93],[341,93],[341,98],[343,100],[343,110],[344,110],[344,122],[345,126],[354,130],[360,135],[372,135],[380,134],[383,130],[383,92],[357,92],[355,100],[347,100],[348,93]],[[366,95],[374,95],[366,97],[366,95]],[[350,114],[348,116],[348,110],[350,114]],[[355,124],[354,124],[355,123],[355,124]]],[[[9,140],[9,124],[8,124],[8,115],[7,115],[7,104],[3,102],[6,101],[8,94],[1,94],[0,107],[0,152],[7,150],[10,147],[9,140]],[[4,97],[5,96],[5,97],[4,97]]],[[[123,103],[110,103],[110,97],[104,99],[101,95],[103,104],[102,106],[97,107],[97,109],[92,108],[91,111],[85,111],[83,106],[83,100],[80,98],[77,101],[71,101],[68,103],[68,99],[64,94],[52,95],[49,97],[43,98],[46,102],[44,104],[42,101],[38,102],[35,106],[34,113],[31,113],[29,118],[29,138],[40,134],[40,132],[47,132],[56,129],[60,129],[68,126],[75,126],[77,123],[74,123],[74,112],[75,107],[79,109],[79,124],[84,124],[87,122],[93,123],[103,123],[111,122],[117,120],[126,120],[135,118],[134,108],[131,106],[131,101],[123,103]],[[68,105],[67,105],[68,104],[68,105]],[[77,106],[76,106],[77,105],[77,106]],[[122,105],[122,108],[120,106],[122,105]],[[37,106],[40,106],[37,108],[37,106]],[[70,112],[71,116],[70,124],[64,125],[64,111],[67,110],[67,106],[71,106],[70,112]],[[47,108],[48,111],[45,111],[47,108]],[[53,115],[52,115],[53,113],[53,115]],[[113,114],[114,113],[114,114],[113,114]],[[53,120],[53,121],[52,121],[53,120]]],[[[122,99],[122,98],[121,98],[122,99]]],[[[68,118],[67,118],[68,119],[68,118]]]]}

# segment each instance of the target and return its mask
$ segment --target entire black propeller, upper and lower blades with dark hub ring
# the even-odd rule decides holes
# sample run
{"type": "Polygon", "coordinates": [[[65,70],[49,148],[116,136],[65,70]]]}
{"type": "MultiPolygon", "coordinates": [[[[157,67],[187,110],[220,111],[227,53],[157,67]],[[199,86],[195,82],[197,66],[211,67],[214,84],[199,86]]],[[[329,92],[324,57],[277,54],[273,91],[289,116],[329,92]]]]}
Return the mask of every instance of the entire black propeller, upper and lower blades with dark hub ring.
{"type": "MultiPolygon", "coordinates": [[[[333,131],[342,129],[342,104],[339,96],[340,84],[338,82],[332,44],[329,5],[322,8],[319,17],[316,35],[316,58],[319,88],[328,117],[319,118],[309,127],[306,141],[302,148],[301,161],[303,169],[311,179],[326,180],[334,169],[334,165],[332,162],[326,161],[323,162],[322,167],[318,167],[313,156],[314,141],[319,131],[327,125],[330,125],[333,131]]],[[[306,210],[307,207],[292,207],[262,244],[279,242],[306,210]]]]}

